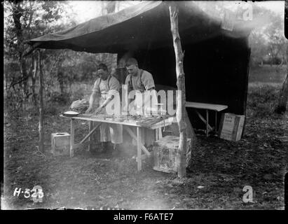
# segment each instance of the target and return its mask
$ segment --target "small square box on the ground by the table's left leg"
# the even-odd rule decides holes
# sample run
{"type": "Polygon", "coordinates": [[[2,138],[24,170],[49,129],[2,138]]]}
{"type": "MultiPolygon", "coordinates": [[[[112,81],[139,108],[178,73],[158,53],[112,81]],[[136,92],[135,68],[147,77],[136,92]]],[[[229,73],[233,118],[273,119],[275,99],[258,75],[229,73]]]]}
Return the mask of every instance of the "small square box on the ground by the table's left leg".
{"type": "Polygon", "coordinates": [[[53,155],[70,155],[70,134],[67,132],[52,133],[51,152],[53,155]]]}

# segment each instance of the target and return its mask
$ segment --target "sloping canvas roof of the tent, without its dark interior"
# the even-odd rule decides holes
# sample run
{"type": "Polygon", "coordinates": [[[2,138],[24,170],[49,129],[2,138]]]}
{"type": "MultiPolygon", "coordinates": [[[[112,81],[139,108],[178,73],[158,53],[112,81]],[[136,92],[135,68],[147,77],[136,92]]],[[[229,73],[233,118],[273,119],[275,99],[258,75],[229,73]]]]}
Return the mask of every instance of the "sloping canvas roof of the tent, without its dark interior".
{"type": "MultiPolygon", "coordinates": [[[[212,18],[191,1],[175,2],[179,7],[179,34],[183,45],[228,35],[248,36],[247,22],[235,23],[233,31],[221,29],[221,20],[212,18]]],[[[75,27],[27,41],[38,48],[68,48],[86,52],[125,52],[172,45],[169,2],[143,1],[118,13],[102,15],[75,27]]]]}

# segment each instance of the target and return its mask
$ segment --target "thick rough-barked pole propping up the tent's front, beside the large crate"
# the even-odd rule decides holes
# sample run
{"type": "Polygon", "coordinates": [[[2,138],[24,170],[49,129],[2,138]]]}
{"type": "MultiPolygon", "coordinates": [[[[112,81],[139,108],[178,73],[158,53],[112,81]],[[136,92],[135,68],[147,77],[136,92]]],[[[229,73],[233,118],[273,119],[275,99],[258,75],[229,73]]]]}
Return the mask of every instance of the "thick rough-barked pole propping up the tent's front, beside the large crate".
{"type": "Polygon", "coordinates": [[[181,48],[181,41],[178,31],[178,8],[172,3],[169,6],[171,33],[173,38],[175,59],[176,59],[176,75],[177,87],[181,94],[177,95],[177,110],[176,118],[179,126],[179,150],[177,153],[177,171],[178,177],[186,176],[186,145],[187,145],[187,132],[186,132],[186,94],[185,94],[185,74],[183,69],[184,53],[181,48]]]}

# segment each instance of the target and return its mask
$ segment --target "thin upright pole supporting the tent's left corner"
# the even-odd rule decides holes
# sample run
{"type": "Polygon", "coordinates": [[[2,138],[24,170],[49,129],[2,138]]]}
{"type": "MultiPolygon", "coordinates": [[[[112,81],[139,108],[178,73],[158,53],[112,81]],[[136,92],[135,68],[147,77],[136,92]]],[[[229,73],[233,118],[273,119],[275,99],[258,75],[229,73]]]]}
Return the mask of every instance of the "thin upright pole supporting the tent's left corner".
{"type": "Polygon", "coordinates": [[[41,66],[41,52],[38,50],[38,66],[39,66],[39,151],[44,151],[43,138],[43,73],[41,66]]]}

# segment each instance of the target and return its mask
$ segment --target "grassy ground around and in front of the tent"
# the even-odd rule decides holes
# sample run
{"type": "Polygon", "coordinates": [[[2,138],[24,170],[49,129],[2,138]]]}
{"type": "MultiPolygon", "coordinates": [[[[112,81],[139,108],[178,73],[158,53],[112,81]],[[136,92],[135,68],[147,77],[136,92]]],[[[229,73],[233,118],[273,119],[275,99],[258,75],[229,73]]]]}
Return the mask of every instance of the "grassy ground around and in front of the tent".
{"type": "MultiPolygon", "coordinates": [[[[252,73],[250,77],[253,76],[252,73]]],[[[45,117],[46,150],[40,153],[36,148],[38,117],[6,113],[1,206],[3,209],[283,209],[288,115],[273,113],[278,91],[275,85],[250,85],[244,137],[232,142],[198,135],[185,179],[154,171],[151,160],[138,173],[133,158],[136,153],[132,150],[110,156],[91,155],[84,146],[74,158],[53,157],[50,134],[55,130],[69,132],[69,120],[57,114],[45,117]],[[31,190],[36,185],[43,188],[42,203],[34,203],[24,194],[13,196],[15,188],[31,190]],[[244,186],[253,188],[252,203],[242,200],[244,186]]],[[[79,141],[87,132],[88,123],[78,121],[76,127],[79,141]]]]}

